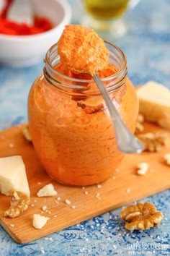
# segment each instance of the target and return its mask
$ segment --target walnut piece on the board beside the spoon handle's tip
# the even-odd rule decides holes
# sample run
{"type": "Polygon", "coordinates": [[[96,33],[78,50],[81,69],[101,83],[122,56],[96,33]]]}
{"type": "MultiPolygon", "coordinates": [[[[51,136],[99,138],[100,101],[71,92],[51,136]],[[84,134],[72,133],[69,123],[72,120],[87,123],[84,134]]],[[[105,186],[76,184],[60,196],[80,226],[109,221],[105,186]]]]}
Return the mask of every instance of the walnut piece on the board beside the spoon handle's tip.
{"type": "Polygon", "coordinates": [[[144,150],[150,152],[158,152],[169,143],[169,135],[167,135],[166,132],[148,132],[137,135],[137,137],[143,143],[144,150]]]}

